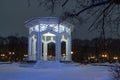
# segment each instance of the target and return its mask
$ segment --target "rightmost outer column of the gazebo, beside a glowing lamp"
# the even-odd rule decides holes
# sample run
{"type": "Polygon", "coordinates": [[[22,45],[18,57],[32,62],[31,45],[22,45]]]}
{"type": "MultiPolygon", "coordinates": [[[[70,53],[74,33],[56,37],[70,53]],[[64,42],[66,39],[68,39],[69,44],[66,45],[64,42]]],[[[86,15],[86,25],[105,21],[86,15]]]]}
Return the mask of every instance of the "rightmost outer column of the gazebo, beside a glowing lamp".
{"type": "Polygon", "coordinates": [[[71,37],[66,41],[66,61],[71,61],[71,37]]]}

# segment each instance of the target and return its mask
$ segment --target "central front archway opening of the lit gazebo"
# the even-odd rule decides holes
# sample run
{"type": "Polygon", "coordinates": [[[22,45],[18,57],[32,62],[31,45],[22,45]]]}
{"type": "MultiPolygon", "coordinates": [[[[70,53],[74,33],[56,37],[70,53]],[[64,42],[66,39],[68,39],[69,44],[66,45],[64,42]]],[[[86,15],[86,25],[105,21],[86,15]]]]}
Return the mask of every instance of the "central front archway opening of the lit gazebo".
{"type": "Polygon", "coordinates": [[[47,32],[42,35],[42,59],[55,60],[55,34],[47,32]]]}

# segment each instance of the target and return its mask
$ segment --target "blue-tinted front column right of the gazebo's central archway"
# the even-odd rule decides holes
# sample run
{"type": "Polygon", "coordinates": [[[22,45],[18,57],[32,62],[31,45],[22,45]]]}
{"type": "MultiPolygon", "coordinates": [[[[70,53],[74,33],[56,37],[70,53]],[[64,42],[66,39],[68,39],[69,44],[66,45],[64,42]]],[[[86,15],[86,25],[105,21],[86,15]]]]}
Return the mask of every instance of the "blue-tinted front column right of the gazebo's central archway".
{"type": "Polygon", "coordinates": [[[55,44],[55,59],[56,61],[61,60],[61,37],[59,34],[56,35],[56,44],[55,44]]]}

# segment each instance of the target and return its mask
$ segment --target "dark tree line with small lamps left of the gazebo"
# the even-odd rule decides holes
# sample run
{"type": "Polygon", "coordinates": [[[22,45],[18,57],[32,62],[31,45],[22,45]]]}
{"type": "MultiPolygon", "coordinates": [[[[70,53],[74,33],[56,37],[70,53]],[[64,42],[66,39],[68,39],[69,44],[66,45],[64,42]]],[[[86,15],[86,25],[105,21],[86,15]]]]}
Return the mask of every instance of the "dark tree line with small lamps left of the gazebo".
{"type": "Polygon", "coordinates": [[[27,38],[23,36],[0,37],[0,60],[23,61],[27,45],[27,38]]]}

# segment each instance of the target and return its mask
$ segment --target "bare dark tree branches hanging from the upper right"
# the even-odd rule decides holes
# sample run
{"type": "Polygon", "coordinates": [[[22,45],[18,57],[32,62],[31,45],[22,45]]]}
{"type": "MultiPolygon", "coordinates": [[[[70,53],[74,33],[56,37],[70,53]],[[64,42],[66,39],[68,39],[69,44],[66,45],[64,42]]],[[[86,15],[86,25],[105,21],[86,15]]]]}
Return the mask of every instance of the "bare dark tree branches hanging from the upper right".
{"type": "MultiPolygon", "coordinates": [[[[28,0],[28,6],[32,6],[32,0],[28,0]]],[[[37,0],[37,6],[45,7],[55,16],[59,9],[60,22],[90,25],[88,31],[99,32],[103,51],[106,48],[106,33],[120,36],[120,0],[37,0]]]]}

